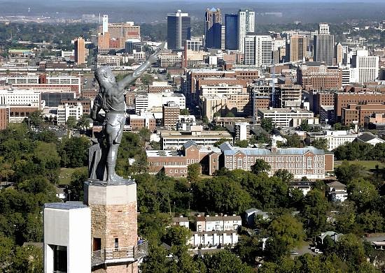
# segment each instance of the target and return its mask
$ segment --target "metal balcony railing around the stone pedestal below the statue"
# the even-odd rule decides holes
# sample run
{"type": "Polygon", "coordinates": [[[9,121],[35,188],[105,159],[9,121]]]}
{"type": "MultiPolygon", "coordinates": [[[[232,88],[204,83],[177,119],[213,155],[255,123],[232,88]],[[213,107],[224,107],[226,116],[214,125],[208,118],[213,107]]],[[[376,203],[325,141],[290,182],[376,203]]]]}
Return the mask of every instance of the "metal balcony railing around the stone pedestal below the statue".
{"type": "Polygon", "coordinates": [[[136,246],[120,247],[116,249],[100,249],[91,254],[91,265],[102,265],[104,263],[118,263],[122,260],[139,260],[147,256],[148,242],[144,241],[136,246]]]}

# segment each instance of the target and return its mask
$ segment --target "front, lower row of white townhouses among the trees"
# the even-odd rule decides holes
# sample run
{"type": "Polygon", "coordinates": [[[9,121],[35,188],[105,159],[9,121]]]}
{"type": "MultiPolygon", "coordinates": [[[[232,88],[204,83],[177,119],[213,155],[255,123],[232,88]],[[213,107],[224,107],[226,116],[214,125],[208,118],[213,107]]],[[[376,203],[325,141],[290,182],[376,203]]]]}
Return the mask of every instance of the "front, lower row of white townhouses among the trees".
{"type": "Polygon", "coordinates": [[[188,240],[191,246],[234,246],[238,243],[238,235],[235,230],[193,231],[188,240]]]}

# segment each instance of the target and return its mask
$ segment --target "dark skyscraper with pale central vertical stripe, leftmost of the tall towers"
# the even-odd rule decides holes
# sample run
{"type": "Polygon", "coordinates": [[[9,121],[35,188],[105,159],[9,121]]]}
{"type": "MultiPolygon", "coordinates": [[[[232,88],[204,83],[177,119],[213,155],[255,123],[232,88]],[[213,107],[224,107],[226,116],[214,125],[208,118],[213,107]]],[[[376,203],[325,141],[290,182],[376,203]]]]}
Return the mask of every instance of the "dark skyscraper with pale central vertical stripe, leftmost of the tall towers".
{"type": "Polygon", "coordinates": [[[191,18],[188,13],[177,10],[167,14],[167,47],[170,50],[179,50],[191,36],[191,18]]]}

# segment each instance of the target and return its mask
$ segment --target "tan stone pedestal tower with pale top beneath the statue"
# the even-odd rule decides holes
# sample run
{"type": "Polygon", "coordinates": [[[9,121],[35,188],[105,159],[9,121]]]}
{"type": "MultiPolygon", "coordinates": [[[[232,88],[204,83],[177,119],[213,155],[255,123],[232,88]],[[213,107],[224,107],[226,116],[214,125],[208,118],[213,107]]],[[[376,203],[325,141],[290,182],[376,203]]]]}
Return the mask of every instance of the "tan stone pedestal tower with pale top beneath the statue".
{"type": "Polygon", "coordinates": [[[137,273],[137,261],[147,253],[137,235],[137,184],[90,179],[84,202],[91,209],[92,272],[137,273]]]}

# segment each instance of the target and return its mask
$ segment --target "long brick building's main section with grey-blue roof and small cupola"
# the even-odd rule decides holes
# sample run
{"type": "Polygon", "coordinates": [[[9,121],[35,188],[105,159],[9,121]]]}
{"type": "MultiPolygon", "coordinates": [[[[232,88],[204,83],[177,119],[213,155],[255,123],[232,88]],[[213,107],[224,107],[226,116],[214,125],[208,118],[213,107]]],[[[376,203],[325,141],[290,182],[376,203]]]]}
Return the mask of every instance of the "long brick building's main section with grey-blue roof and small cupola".
{"type": "Polygon", "coordinates": [[[295,179],[307,177],[309,179],[324,179],[325,172],[334,168],[334,154],[325,153],[314,147],[305,148],[277,148],[274,143],[271,149],[239,148],[225,142],[221,146],[220,168],[228,170],[251,170],[257,159],[269,163],[271,169],[268,174],[274,175],[277,170],[286,169],[295,179]]]}

